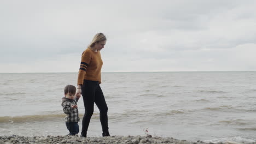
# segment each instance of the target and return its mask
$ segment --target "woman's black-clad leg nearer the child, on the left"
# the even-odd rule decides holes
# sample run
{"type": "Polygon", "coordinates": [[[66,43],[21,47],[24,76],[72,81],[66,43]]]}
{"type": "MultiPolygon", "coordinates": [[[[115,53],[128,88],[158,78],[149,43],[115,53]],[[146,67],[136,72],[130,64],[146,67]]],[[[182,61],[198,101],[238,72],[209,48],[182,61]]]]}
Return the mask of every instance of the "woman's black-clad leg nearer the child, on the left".
{"type": "Polygon", "coordinates": [[[95,101],[95,90],[97,87],[96,81],[84,80],[82,87],[82,95],[84,100],[85,113],[82,121],[82,132],[81,135],[86,137],[91,116],[94,113],[94,101],[95,101]]]}

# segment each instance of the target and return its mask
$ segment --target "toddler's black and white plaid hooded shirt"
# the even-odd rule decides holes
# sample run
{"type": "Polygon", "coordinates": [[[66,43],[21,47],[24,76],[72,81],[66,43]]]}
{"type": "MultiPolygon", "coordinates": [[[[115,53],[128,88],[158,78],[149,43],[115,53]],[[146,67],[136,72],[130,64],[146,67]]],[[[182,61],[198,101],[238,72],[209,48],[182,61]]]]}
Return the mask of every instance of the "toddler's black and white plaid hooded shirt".
{"type": "Polygon", "coordinates": [[[72,105],[77,105],[78,98],[75,100],[62,98],[62,107],[63,112],[66,113],[65,121],[66,122],[79,122],[80,118],[78,117],[78,109],[72,109],[72,105]]]}

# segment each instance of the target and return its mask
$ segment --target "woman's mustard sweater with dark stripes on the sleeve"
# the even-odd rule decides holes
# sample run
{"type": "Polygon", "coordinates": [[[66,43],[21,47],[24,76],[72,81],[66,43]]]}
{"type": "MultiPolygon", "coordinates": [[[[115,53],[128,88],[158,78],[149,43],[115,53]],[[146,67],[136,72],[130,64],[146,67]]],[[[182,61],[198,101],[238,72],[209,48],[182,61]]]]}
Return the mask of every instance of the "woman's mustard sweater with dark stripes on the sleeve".
{"type": "Polygon", "coordinates": [[[82,54],[77,85],[83,85],[84,80],[99,81],[101,83],[102,65],[100,51],[95,52],[87,48],[82,54]]]}

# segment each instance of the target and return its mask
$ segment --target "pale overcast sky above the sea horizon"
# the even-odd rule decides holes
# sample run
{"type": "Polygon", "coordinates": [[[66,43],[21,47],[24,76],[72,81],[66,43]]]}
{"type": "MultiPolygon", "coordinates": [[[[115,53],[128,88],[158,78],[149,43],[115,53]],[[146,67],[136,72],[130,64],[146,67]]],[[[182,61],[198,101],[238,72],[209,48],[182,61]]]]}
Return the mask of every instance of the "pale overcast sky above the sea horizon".
{"type": "Polygon", "coordinates": [[[0,73],[78,72],[102,32],[102,71],[256,70],[256,1],[0,0],[0,73]]]}

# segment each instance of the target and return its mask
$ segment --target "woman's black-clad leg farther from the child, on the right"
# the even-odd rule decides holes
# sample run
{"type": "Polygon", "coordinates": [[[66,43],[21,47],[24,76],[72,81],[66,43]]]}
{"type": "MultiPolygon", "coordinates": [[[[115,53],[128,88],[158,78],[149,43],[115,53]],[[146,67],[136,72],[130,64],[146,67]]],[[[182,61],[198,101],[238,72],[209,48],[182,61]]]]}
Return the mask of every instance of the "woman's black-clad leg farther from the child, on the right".
{"type": "Polygon", "coordinates": [[[101,127],[103,131],[103,136],[109,136],[108,132],[108,106],[106,100],[104,98],[103,92],[101,90],[100,85],[97,86],[95,92],[95,104],[97,105],[98,109],[100,110],[100,120],[101,120],[101,127]]]}

